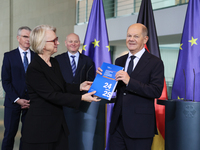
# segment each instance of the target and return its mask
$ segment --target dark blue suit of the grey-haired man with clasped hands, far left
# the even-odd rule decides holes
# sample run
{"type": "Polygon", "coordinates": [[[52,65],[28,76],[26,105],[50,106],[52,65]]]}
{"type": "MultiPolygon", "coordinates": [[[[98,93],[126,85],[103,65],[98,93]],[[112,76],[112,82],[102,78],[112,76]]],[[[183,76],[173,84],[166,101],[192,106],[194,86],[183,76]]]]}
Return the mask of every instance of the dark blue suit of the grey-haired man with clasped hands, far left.
{"type": "MultiPolygon", "coordinates": [[[[31,51],[31,59],[33,57],[34,52],[31,51]]],[[[29,100],[25,83],[25,70],[18,48],[4,54],[1,78],[6,93],[4,101],[5,132],[2,150],[12,150],[21,113],[23,123],[27,112],[27,109],[21,109],[21,106],[14,101],[17,98],[29,100]]]]}

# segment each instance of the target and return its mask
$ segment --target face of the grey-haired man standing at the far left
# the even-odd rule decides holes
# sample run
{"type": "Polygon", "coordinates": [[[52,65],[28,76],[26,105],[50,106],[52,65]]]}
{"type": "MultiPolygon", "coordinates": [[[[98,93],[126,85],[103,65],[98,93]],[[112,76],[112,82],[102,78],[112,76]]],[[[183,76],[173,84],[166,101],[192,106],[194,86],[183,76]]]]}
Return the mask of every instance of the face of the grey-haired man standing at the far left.
{"type": "Polygon", "coordinates": [[[29,43],[29,37],[30,37],[30,31],[29,30],[21,30],[20,35],[17,36],[17,40],[19,42],[19,47],[23,50],[28,50],[30,47],[29,43]]]}

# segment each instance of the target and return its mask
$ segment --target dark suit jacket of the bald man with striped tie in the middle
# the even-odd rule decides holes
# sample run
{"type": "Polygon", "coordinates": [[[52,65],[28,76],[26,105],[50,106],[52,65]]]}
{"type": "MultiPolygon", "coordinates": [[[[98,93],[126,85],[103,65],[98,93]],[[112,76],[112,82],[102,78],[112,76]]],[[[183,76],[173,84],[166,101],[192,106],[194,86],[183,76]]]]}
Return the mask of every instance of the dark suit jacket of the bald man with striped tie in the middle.
{"type": "Polygon", "coordinates": [[[92,59],[83,54],[79,55],[78,66],[75,77],[72,74],[68,53],[63,53],[55,57],[60,65],[63,78],[67,83],[80,84],[84,81],[93,81],[95,78],[95,65],[92,59]]]}

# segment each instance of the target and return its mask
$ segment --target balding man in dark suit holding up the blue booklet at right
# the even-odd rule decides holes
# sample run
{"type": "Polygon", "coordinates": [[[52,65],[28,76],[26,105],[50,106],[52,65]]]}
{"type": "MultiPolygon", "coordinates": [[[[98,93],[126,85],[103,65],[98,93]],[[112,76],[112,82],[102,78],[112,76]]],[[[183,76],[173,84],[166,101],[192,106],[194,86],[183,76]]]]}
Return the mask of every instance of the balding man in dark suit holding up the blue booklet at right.
{"type": "Polygon", "coordinates": [[[154,99],[162,93],[164,66],[145,50],[147,32],[142,24],[131,25],[126,37],[129,53],[115,61],[124,71],[116,73],[119,82],[109,131],[110,150],[151,150],[157,133],[154,99]]]}

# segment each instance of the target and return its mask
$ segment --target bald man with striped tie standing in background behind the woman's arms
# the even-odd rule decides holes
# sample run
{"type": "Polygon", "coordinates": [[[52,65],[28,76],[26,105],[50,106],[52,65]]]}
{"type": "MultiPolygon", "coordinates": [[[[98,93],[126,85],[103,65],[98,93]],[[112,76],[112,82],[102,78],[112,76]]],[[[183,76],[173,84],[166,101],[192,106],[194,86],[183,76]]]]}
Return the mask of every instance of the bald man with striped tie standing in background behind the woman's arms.
{"type": "MultiPolygon", "coordinates": [[[[80,47],[79,36],[75,33],[71,33],[66,37],[65,46],[67,52],[56,56],[58,60],[62,75],[67,83],[80,84],[84,81],[93,81],[95,78],[95,65],[93,60],[80,54],[78,49],[80,47]],[[75,61],[75,70],[72,67],[73,58],[75,61]],[[74,72],[74,73],[73,73],[74,72]]],[[[78,110],[64,107],[63,111],[65,119],[68,124],[70,135],[69,135],[69,149],[78,150],[83,147],[82,143],[82,129],[80,124],[84,123],[84,113],[89,107],[90,103],[81,102],[78,110]],[[76,144],[74,142],[76,141],[76,144]]]]}

